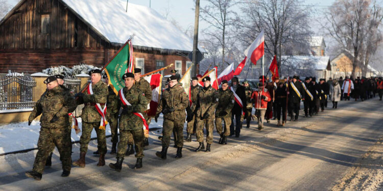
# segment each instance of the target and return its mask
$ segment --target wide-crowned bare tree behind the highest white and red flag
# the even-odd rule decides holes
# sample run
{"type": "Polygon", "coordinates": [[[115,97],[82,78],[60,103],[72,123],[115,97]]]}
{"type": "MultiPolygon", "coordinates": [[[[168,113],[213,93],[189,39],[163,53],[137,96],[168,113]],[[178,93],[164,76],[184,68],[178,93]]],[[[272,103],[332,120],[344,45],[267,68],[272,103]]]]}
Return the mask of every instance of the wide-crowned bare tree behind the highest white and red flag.
{"type": "Polygon", "coordinates": [[[300,4],[299,0],[249,0],[243,4],[244,17],[237,26],[243,45],[248,46],[265,30],[266,57],[270,60],[274,54],[279,56],[279,71],[282,53],[307,54],[311,10],[300,4]]]}

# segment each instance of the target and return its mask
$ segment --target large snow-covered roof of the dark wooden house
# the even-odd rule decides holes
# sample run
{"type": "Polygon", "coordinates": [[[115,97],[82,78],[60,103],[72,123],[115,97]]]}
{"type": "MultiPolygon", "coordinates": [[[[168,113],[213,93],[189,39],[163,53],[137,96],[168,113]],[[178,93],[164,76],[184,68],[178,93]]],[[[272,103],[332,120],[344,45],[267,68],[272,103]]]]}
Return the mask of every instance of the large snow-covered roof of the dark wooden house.
{"type": "Polygon", "coordinates": [[[129,3],[126,12],[125,0],[61,1],[112,43],[124,44],[134,35],[136,46],[193,50],[193,39],[151,8],[129,3]]]}

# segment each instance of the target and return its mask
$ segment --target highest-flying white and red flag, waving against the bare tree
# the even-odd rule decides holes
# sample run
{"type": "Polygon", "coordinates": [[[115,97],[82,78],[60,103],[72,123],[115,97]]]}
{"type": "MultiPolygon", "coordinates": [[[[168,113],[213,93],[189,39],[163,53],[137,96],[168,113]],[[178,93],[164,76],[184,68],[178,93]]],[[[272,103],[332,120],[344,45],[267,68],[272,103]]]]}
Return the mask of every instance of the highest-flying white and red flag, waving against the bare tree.
{"type": "Polygon", "coordinates": [[[253,43],[245,50],[245,63],[249,60],[254,65],[257,65],[257,60],[262,58],[265,54],[265,32],[262,30],[253,43]]]}

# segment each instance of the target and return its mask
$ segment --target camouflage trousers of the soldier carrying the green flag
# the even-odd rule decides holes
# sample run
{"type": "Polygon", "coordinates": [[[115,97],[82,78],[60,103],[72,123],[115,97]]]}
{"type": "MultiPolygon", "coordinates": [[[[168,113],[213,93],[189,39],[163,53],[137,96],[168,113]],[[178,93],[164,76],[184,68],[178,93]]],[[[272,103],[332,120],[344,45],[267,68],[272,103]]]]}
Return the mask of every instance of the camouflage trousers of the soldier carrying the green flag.
{"type": "Polygon", "coordinates": [[[94,128],[97,134],[97,148],[100,154],[106,153],[106,138],[105,138],[105,130],[99,129],[100,122],[87,123],[82,122],[82,134],[80,138],[80,151],[87,152],[88,144],[90,142],[90,135],[94,128]]]}

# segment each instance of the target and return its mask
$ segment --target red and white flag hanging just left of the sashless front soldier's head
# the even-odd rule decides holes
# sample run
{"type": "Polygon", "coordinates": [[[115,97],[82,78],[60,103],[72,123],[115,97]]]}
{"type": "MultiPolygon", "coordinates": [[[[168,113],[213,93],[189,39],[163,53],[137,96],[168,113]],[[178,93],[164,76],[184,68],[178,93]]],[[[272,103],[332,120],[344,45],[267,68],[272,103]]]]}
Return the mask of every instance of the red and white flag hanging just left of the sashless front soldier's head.
{"type": "Polygon", "coordinates": [[[155,116],[161,94],[162,75],[157,73],[145,76],[143,78],[149,82],[150,87],[152,88],[152,100],[148,105],[147,114],[148,116],[155,116]]]}

